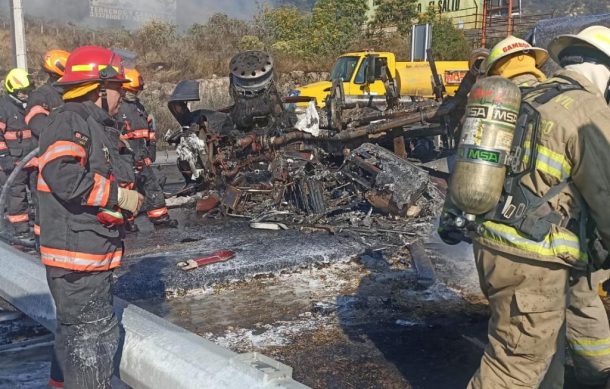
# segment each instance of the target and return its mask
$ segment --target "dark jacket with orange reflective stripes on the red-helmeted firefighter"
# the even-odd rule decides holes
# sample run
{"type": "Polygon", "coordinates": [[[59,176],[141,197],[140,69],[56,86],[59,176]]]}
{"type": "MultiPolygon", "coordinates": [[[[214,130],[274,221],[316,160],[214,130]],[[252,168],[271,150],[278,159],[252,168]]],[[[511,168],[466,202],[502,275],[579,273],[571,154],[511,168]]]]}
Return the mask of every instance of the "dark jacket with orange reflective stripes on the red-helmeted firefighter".
{"type": "Polygon", "coordinates": [[[119,266],[123,230],[97,220],[116,206],[118,184],[134,182],[119,157],[116,122],[91,102],[66,103],[41,134],[40,252],[47,266],[104,271],[119,266]]]}

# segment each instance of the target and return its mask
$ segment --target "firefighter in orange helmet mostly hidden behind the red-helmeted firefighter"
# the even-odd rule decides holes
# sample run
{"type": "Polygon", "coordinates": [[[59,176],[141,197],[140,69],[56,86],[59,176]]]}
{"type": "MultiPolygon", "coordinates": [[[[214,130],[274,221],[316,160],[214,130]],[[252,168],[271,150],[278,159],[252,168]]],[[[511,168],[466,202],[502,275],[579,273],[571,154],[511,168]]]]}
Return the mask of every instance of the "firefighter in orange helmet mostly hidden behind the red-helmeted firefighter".
{"type": "MultiPolygon", "coordinates": [[[[42,58],[42,69],[48,74],[45,84],[30,94],[25,111],[25,124],[32,131],[32,136],[40,139],[40,134],[48,125],[49,112],[63,104],[59,89],[53,85],[64,74],[68,53],[64,50],[49,50],[42,58]]],[[[40,235],[38,213],[34,222],[34,235],[40,235]]]]}

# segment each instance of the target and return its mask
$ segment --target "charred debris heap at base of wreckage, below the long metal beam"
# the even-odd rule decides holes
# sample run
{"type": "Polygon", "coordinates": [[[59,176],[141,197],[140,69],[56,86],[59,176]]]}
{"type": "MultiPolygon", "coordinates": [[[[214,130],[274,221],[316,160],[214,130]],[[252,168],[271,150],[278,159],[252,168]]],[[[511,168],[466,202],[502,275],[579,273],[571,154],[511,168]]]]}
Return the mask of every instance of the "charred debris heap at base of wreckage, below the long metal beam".
{"type": "Polygon", "coordinates": [[[248,218],[252,228],[353,234],[371,245],[403,246],[428,227],[443,194],[428,173],[381,146],[365,143],[341,165],[331,158],[279,152],[240,186],[204,196],[205,217],[248,218]],[[218,205],[218,206],[216,206],[218,205]]]}

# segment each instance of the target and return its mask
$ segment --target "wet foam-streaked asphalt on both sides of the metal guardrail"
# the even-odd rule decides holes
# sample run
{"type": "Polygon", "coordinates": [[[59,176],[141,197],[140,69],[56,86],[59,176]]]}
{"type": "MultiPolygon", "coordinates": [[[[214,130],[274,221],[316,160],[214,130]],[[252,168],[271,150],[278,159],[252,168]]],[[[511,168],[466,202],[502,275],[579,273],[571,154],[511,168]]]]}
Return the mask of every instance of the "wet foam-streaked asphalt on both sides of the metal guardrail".
{"type": "MultiPolygon", "coordinates": [[[[353,234],[252,230],[192,208],[170,213],[180,228],[138,218],[117,295],[236,352],[286,363],[313,388],[463,388],[477,369],[488,314],[471,248],[444,245],[429,222],[411,225],[418,236],[410,238],[423,237],[436,273],[424,288],[405,247],[353,234]],[[191,272],[176,266],[218,249],[237,256],[191,272]]],[[[45,387],[45,335],[27,319],[0,323],[0,347],[44,340],[0,351],[0,388],[45,387]]]]}

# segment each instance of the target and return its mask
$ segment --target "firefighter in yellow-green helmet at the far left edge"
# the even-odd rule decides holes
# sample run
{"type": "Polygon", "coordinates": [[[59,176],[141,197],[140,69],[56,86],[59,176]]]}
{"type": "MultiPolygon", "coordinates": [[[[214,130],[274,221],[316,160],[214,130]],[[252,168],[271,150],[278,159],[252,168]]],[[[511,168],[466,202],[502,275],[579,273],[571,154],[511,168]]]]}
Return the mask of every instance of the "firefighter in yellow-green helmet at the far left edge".
{"type": "MultiPolygon", "coordinates": [[[[34,83],[27,71],[12,69],[4,79],[7,92],[0,98],[0,130],[8,153],[2,158],[2,169],[7,175],[19,161],[36,148],[32,132],[25,123],[25,107],[34,83]]],[[[20,238],[30,235],[28,190],[36,204],[36,167],[35,160],[19,172],[9,188],[8,220],[15,234],[20,238]]]]}

